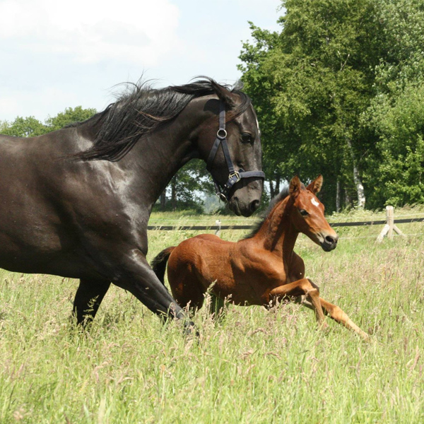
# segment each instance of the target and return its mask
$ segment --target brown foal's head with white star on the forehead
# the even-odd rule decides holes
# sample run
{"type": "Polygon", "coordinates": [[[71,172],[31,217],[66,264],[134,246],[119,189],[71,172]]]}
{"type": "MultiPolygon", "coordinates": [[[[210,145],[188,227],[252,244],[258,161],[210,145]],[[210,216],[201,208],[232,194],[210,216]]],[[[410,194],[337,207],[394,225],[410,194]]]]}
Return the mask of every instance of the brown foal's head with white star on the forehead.
{"type": "Polygon", "coordinates": [[[299,232],[310,237],[326,252],[336,249],[338,235],[324,217],[324,205],[316,194],[322,187],[322,175],[319,175],[306,188],[298,177],[290,181],[290,198],[293,201],[291,219],[299,232]]]}

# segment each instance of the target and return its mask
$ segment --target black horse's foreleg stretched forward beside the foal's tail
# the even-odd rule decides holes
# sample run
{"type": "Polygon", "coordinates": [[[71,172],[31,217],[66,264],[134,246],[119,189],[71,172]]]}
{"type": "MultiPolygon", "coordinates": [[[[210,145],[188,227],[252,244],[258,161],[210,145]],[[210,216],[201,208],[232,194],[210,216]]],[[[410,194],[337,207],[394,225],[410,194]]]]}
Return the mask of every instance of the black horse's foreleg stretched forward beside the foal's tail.
{"type": "Polygon", "coordinates": [[[114,270],[112,282],[128,290],[158,316],[182,319],[186,334],[191,334],[194,330],[194,323],[160,282],[139,249],[126,255],[124,261],[114,270]]]}

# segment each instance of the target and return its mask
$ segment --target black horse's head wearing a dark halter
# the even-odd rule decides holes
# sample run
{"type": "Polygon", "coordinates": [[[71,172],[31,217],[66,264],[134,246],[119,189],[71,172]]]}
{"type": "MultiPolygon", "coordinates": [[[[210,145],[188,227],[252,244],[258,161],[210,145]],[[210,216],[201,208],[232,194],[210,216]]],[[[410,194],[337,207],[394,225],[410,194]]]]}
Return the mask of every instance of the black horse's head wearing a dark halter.
{"type": "Polygon", "coordinates": [[[214,117],[199,134],[199,151],[220,199],[236,215],[250,216],[259,206],[264,186],[257,116],[245,94],[214,81],[212,86],[218,100],[206,102],[205,110],[214,117]]]}

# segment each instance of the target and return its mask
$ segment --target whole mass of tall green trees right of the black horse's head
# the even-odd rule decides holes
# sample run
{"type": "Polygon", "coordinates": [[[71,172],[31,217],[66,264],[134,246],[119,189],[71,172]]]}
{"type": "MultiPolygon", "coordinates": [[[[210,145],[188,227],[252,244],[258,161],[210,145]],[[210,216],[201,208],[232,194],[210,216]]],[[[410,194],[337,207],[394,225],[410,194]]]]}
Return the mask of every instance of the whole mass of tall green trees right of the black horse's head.
{"type": "Polygon", "coordinates": [[[322,174],[331,210],[342,198],[360,206],[367,199],[374,208],[421,201],[423,2],[283,0],[281,6],[281,31],[250,23],[253,42],[240,54],[271,191],[295,174],[322,174]]]}

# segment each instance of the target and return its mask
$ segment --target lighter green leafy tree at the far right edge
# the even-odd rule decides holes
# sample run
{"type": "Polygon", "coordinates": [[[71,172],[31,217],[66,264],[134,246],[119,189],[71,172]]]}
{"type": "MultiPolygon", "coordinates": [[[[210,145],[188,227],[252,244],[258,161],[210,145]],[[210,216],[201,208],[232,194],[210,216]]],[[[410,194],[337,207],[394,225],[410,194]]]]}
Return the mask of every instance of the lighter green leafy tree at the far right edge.
{"type": "Polygon", "coordinates": [[[424,201],[424,4],[380,0],[388,54],[376,68],[376,95],[363,125],[377,136],[365,182],[371,207],[424,201]]]}

